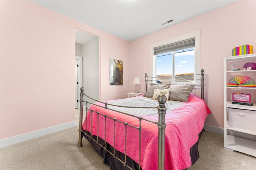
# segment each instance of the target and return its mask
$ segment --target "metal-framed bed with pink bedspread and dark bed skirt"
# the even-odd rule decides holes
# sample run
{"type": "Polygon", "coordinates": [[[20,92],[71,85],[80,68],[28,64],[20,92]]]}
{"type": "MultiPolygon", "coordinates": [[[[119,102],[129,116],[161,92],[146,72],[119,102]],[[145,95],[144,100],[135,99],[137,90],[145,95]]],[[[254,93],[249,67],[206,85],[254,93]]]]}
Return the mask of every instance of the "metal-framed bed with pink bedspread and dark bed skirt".
{"type": "MultiPolygon", "coordinates": [[[[201,70],[201,98],[204,96],[204,70],[201,70]]],[[[145,76],[147,82],[151,78],[145,76]]],[[[122,100],[90,103],[81,88],[80,108],[86,105],[82,124],[80,109],[78,147],[86,138],[110,169],[183,170],[199,158],[198,142],[204,120],[210,113],[206,103],[194,94],[188,102],[157,100],[143,95],[122,100]],[[91,104],[90,108],[88,105],[91,104]]],[[[90,98],[92,99],[92,98],[90,98]]]]}

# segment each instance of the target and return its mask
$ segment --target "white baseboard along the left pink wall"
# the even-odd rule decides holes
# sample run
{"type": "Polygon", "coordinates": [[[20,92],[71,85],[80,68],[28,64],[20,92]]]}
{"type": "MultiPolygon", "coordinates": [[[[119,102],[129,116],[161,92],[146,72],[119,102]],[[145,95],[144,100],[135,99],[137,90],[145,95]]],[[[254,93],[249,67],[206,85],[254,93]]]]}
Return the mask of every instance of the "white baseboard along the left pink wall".
{"type": "Polygon", "coordinates": [[[48,135],[50,133],[55,133],[58,131],[62,131],[65,129],[69,129],[71,127],[75,127],[76,126],[76,121],[72,121],[69,123],[64,123],[61,125],[56,125],[56,126],[52,126],[52,127],[48,127],[45,129],[40,129],[38,131],[33,131],[33,132],[29,132],[29,133],[25,133],[22,135],[17,135],[14,137],[9,137],[6,139],[2,139],[0,140],[0,148],[4,148],[4,147],[8,147],[10,145],[14,145],[16,143],[20,143],[20,142],[24,142],[24,141],[28,141],[30,139],[34,139],[37,137],[41,137],[44,135],[48,135]]]}

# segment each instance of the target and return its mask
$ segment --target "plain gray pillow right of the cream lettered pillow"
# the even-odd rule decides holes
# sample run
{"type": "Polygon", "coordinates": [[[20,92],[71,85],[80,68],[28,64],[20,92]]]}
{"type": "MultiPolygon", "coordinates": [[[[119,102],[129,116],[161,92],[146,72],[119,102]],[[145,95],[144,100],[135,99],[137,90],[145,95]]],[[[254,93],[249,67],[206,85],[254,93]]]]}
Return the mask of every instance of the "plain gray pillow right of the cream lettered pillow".
{"type": "Polygon", "coordinates": [[[188,102],[188,96],[196,84],[174,84],[170,86],[169,100],[188,102]]]}

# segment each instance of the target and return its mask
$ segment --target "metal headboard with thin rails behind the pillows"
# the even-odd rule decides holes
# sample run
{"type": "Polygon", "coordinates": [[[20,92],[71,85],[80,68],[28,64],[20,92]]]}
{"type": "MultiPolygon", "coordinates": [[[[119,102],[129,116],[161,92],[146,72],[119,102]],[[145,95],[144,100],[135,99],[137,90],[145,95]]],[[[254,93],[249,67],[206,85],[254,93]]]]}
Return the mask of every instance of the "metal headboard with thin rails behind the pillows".
{"type": "MultiPolygon", "coordinates": [[[[194,74],[193,76],[197,76],[197,75],[200,75],[201,78],[200,79],[190,79],[191,80],[191,84],[192,84],[192,81],[193,80],[200,80],[201,83],[200,83],[200,89],[201,89],[201,98],[204,99],[204,69],[200,70],[200,74],[194,74]]],[[[183,76],[182,78],[184,77],[189,77],[189,76],[183,76]]],[[[166,80],[163,80],[163,79],[160,79],[158,80],[157,77],[151,77],[151,76],[148,76],[147,73],[145,73],[145,82],[146,82],[146,91],[148,91],[148,81],[151,81],[151,83],[153,81],[170,81],[172,82],[172,80],[175,80],[176,77],[173,77],[173,78],[167,78],[166,80]],[[150,79],[148,79],[150,78],[150,79]],[[171,79],[171,80],[170,80],[171,79]]],[[[180,79],[177,79],[177,80],[180,80],[180,79]]],[[[188,79],[186,79],[186,81],[188,81],[188,79]]],[[[172,84],[175,84],[175,83],[172,83],[172,84]]]]}

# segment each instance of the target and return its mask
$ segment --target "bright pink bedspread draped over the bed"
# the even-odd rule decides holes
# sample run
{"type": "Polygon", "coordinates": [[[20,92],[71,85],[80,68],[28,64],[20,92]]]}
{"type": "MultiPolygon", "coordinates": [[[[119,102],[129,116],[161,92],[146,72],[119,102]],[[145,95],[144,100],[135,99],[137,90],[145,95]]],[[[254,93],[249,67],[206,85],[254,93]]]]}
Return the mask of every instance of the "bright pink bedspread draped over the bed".
{"type": "MultiPolygon", "coordinates": [[[[104,106],[104,104],[98,104],[104,106]]],[[[135,117],[123,115],[108,109],[91,106],[90,109],[99,111],[120,121],[139,127],[135,117]]],[[[157,110],[156,110],[157,112],[157,110]]],[[[211,111],[204,102],[194,94],[190,94],[188,103],[171,112],[166,111],[165,137],[165,169],[182,170],[191,166],[190,148],[198,141],[198,134],[204,127],[204,121],[211,111]]],[[[158,121],[158,114],[144,116],[158,121]]],[[[104,139],[104,116],[99,115],[99,137],[104,139]]],[[[91,112],[87,114],[87,131],[91,132],[91,112]]],[[[97,114],[92,116],[92,135],[97,135],[97,114]]],[[[86,129],[84,121],[83,129],[86,129]]],[[[114,121],[106,119],[106,142],[114,145],[114,121]]],[[[116,122],[116,150],[124,153],[124,124],[116,122]]],[[[139,133],[137,129],[127,126],[126,154],[137,163],[139,162],[139,133]]],[[[141,167],[144,170],[156,170],[158,167],[158,127],[154,123],[142,120],[141,132],[141,167]]]]}

